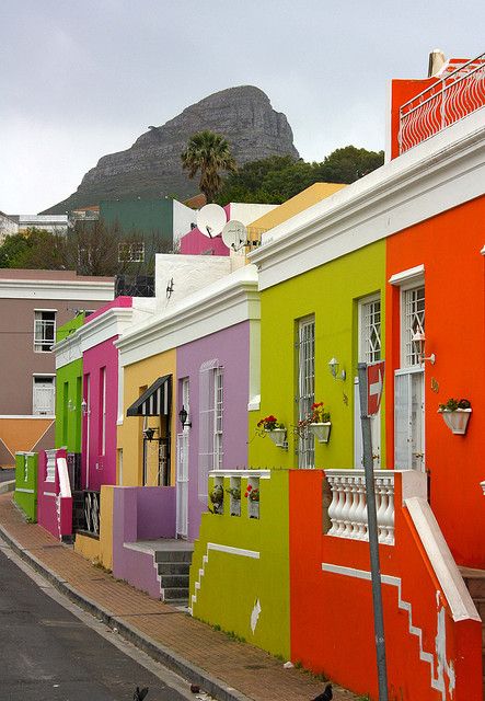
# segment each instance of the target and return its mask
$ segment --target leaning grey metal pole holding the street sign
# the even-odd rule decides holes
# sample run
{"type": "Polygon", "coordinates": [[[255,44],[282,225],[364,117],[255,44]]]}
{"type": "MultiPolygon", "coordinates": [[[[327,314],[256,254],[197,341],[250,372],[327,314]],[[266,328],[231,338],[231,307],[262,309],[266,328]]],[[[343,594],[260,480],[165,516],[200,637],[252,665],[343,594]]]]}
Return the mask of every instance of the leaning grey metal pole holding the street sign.
{"type": "Polygon", "coordinates": [[[370,572],[372,579],[373,624],[378,662],[379,701],[388,701],[384,618],[382,612],[381,566],[379,562],[378,517],[373,481],[372,436],[367,413],[367,363],[358,364],[360,418],[362,424],[363,470],[366,474],[367,518],[369,528],[370,572]]]}

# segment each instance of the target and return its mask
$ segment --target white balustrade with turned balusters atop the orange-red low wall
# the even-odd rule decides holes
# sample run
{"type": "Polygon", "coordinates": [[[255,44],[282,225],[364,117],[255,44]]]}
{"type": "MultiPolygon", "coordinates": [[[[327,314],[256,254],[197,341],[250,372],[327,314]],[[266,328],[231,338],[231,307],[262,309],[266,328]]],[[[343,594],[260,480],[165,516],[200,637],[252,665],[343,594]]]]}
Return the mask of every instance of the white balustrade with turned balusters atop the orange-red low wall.
{"type": "MultiPolygon", "coordinates": [[[[328,518],[332,527],[327,536],[369,540],[367,495],[363,470],[325,470],[332,490],[328,518]]],[[[394,544],[394,474],[390,470],[374,470],[376,510],[379,542],[394,544]]]]}

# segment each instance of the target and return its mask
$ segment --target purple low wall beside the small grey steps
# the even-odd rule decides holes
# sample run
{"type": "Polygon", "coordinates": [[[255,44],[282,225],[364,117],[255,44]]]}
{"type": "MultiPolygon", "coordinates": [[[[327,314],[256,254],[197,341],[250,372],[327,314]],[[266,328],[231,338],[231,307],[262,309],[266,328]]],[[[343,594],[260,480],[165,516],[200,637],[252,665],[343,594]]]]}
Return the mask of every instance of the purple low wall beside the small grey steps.
{"type": "MultiPolygon", "coordinates": [[[[103,487],[105,489],[105,487],[103,487]]],[[[125,543],[175,538],[175,487],[114,486],[113,575],[137,589],[160,598],[153,555],[126,548],[125,543]]]]}

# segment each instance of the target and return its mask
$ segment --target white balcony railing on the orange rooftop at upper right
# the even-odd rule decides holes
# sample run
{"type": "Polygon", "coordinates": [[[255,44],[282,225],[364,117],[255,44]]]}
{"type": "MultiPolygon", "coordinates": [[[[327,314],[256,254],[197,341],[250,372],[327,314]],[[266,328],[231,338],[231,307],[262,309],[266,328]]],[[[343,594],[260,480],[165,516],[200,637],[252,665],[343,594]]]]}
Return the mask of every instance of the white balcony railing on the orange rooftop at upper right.
{"type": "Polygon", "coordinates": [[[485,105],[485,54],[443,74],[400,108],[400,153],[485,105]]]}

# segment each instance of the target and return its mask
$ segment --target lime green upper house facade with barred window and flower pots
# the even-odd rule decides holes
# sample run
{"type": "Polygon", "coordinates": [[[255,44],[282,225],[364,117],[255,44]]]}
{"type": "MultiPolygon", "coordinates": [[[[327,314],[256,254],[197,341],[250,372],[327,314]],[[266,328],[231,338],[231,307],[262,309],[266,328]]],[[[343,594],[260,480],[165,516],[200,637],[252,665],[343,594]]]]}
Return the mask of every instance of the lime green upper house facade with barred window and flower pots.
{"type": "MultiPolygon", "coordinates": [[[[315,317],[315,401],[332,414],[328,444],[315,441],[316,468],[354,467],[354,377],[357,372],[358,299],[381,291],[381,319],[385,318],[385,242],[378,242],[281,283],[261,294],[261,411],[250,412],[251,467],[298,467],[296,348],[298,320],[315,317]],[[328,360],[345,368],[336,381],[328,360]],[[288,450],[268,437],[255,436],[259,418],[274,414],[288,430],[288,450]],[[253,436],[255,436],[253,438],[253,436]]],[[[384,329],[382,327],[382,348],[384,329]]],[[[381,409],[381,467],[385,466],[384,406],[381,409]]]]}

